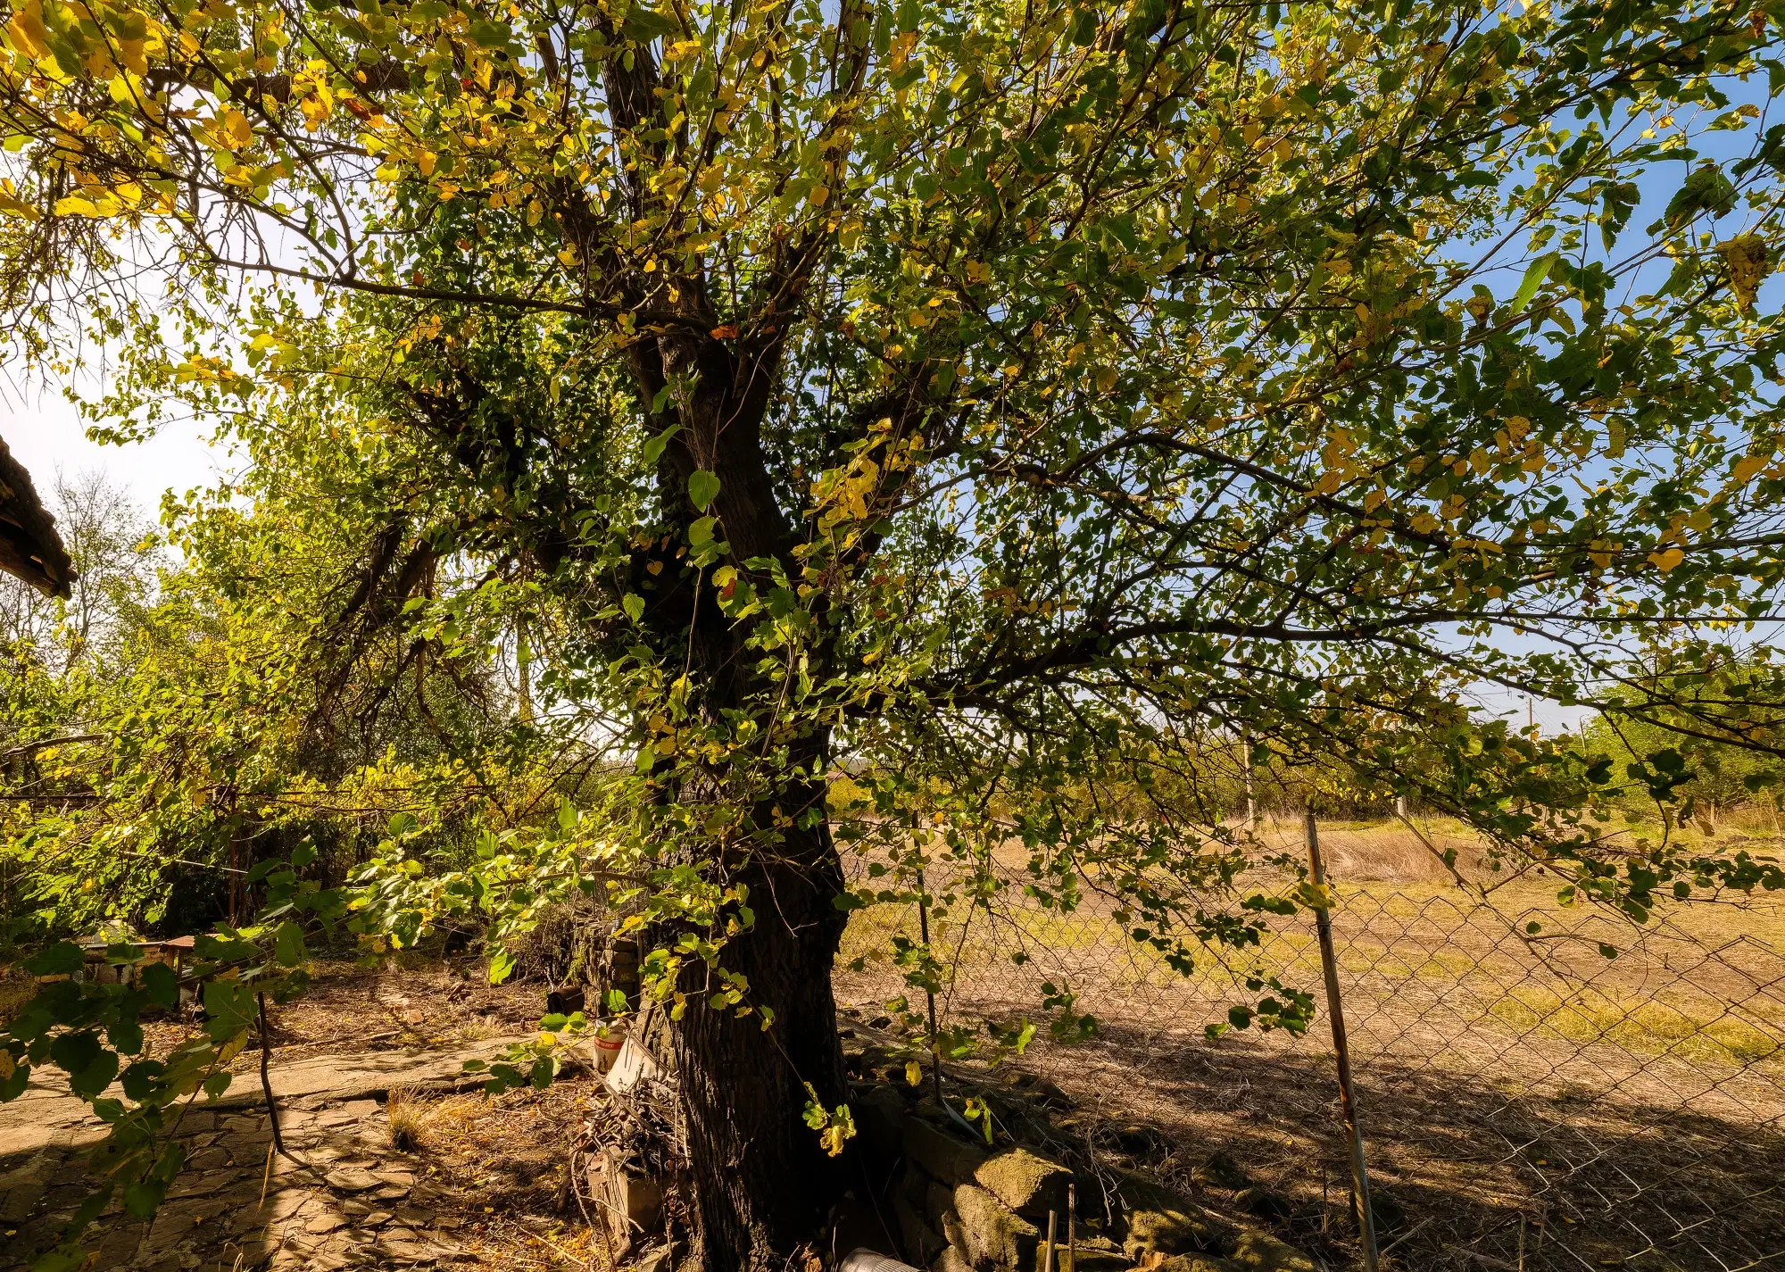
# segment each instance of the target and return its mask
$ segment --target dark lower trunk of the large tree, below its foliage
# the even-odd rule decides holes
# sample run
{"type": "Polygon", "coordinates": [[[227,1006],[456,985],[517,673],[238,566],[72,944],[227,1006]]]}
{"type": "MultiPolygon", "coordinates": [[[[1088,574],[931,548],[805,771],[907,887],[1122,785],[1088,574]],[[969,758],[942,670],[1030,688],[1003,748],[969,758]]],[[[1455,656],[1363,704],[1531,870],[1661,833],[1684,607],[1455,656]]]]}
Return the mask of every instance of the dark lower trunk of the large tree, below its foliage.
{"type": "Polygon", "coordinates": [[[843,1192],[839,1163],[803,1118],[807,1083],[826,1109],[848,1099],[830,992],[846,922],[832,904],[843,872],[823,822],[789,829],[780,849],[739,872],[755,927],[721,954],[726,970],[750,977],[751,1002],[775,1011],[773,1027],[694,995],[677,1027],[707,1272],[785,1267],[819,1238],[843,1192]]]}

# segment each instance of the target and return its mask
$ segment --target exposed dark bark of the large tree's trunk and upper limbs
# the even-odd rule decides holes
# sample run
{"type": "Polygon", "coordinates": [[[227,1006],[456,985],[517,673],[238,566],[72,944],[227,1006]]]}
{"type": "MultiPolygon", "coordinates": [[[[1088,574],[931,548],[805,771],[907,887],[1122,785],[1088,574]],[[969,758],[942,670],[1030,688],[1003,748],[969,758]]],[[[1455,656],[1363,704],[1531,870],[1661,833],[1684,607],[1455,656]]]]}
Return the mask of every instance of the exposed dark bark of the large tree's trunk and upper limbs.
{"type": "MultiPolygon", "coordinates": [[[[860,0],[843,0],[832,80],[837,109],[823,125],[826,136],[807,139],[823,143],[835,164],[848,154],[848,100],[860,89],[869,59],[869,23],[860,18],[860,0]]],[[[669,130],[685,132],[687,125],[662,118],[659,68],[650,48],[634,50],[628,61],[607,59],[602,73],[616,129],[639,138],[650,159],[662,161],[669,130]],[[653,132],[659,139],[652,139],[653,132]]],[[[685,146],[687,138],[678,139],[685,146]]],[[[660,205],[660,191],[644,180],[650,168],[650,163],[635,166],[627,211],[634,220],[648,207],[678,216],[660,205]]],[[[689,502],[687,481],[696,470],[710,472],[719,490],[707,511],[719,516],[732,561],[775,557],[796,570],[793,548],[800,527],[776,498],[762,422],[780,388],[782,354],[789,329],[800,322],[805,288],[830,248],[828,227],[818,222],[787,238],[771,234],[762,279],[750,297],[732,298],[734,305],[743,302],[743,311],[725,322],[698,266],[675,279],[666,270],[632,272],[598,222],[600,214],[575,191],[559,204],[568,238],[602,264],[603,277],[625,279],[628,307],[655,314],[650,334],[628,345],[628,356],[641,402],[662,404],[648,427],[660,432],[680,425],[657,475],[666,516],[684,527],[700,516],[689,502]]],[[[726,707],[760,704],[766,686],[753,684],[748,670],[757,659],[741,647],[710,597],[703,606],[698,586],[680,586],[682,570],[673,559],[662,561],[669,568],[653,577],[646,577],[646,565],[643,556],[635,559],[634,590],[646,600],[644,622],[659,649],[685,650],[696,686],[691,700],[698,697],[710,718],[726,707]]],[[[809,656],[821,659],[823,650],[809,656]]],[[[771,727],[768,720],[762,724],[771,727]]],[[[785,1267],[801,1243],[819,1236],[839,1192],[841,1172],[803,1118],[807,1084],[826,1108],[846,1099],[830,990],[844,913],[832,904],[843,888],[843,866],[823,820],[828,740],[809,732],[785,741],[793,750],[785,781],[773,793],[759,793],[760,806],[753,809],[757,827],[780,827],[778,840],[757,843],[737,861],[716,850],[716,865],[748,884],[757,916],[750,931],[726,943],[723,965],[748,977],[751,1004],[771,1008],[775,1024],[764,1031],[757,1017],[709,1009],[689,984],[684,986],[691,990],[687,1013],[675,1025],[694,1208],[709,1272],[785,1267]],[[796,816],[789,825],[776,816],[789,809],[816,809],[818,816],[796,816]]]]}

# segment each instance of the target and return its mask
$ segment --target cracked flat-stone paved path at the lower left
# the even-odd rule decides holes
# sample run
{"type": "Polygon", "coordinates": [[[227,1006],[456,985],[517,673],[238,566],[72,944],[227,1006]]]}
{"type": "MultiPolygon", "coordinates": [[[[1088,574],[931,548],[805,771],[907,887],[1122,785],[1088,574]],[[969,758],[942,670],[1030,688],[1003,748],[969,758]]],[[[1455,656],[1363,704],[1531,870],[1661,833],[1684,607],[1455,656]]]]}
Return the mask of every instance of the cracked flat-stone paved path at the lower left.
{"type": "MultiPolygon", "coordinates": [[[[443,1206],[446,1179],[418,1177],[389,1142],[393,1088],[469,1084],[469,1049],[312,1056],[275,1065],[280,1129],[291,1158],[271,1154],[255,1074],[180,1122],[187,1167],[150,1224],[104,1220],[96,1268],[246,1272],[248,1268],[446,1267],[475,1263],[455,1240],[462,1218],[443,1206]],[[293,1159],[295,1158],[295,1159],[293,1159]]],[[[84,1149],[105,1134],[55,1077],[0,1106],[0,1272],[30,1267],[87,1195],[84,1149]]],[[[109,1215],[116,1215],[116,1204],[109,1215]]]]}

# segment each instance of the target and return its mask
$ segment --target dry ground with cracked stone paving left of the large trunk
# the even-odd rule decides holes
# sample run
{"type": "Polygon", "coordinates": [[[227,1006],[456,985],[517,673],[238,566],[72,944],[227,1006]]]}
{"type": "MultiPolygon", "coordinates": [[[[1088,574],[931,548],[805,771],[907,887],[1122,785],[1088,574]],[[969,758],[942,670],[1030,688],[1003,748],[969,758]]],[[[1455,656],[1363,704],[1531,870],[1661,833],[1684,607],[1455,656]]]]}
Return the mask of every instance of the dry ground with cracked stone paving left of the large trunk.
{"type": "MultiPolygon", "coordinates": [[[[587,1268],[587,1227],[575,1206],[562,1209],[559,1170],[600,1099],[593,1077],[489,1097],[461,1075],[466,1058],[528,1034],[539,999],[539,986],[491,988],[441,965],[323,965],[311,997],[273,1009],[289,1158],[271,1152],[259,1052],[248,1050],[225,1097],[182,1120],[189,1167],[155,1220],[114,1208],[89,1267],[587,1268]]],[[[191,1027],[157,1024],[152,1049],[191,1027]]],[[[55,1242],[93,1186],[84,1149],[102,1133],[54,1074],[0,1106],[0,1270],[55,1242]]]]}

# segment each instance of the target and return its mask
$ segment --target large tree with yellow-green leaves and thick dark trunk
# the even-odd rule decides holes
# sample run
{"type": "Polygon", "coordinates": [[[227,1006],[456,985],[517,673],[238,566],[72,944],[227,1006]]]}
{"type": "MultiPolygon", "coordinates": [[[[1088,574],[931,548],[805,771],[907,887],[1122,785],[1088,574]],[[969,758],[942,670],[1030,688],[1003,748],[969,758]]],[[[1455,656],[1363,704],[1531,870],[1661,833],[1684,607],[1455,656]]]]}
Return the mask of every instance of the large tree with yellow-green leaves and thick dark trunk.
{"type": "Polygon", "coordinates": [[[11,4],[20,352],[68,366],[73,311],[112,436],[184,400],[352,454],[352,622],[550,620],[627,740],[553,877],[653,936],[714,1268],[835,1188],[855,836],[1244,947],[1287,904],[1223,891],[1244,745],[1635,909],[1755,881],[1606,847],[1598,774],[1460,693],[1771,613],[1785,7],[11,4]]]}

